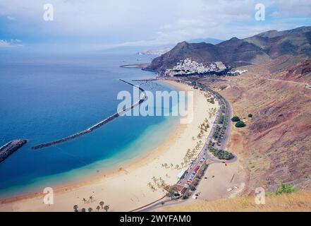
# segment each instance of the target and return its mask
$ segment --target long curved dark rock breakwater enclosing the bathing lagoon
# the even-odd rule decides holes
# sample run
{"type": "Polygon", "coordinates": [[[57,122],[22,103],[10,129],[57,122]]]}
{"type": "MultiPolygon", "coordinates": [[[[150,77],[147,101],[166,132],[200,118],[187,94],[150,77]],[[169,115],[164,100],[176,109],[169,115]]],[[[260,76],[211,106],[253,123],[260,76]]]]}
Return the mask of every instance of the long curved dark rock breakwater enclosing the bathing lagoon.
{"type": "Polygon", "coordinates": [[[146,95],[146,92],[143,88],[140,88],[139,86],[137,85],[134,85],[133,83],[129,83],[127,81],[124,81],[123,79],[119,79],[119,81],[123,82],[123,83],[126,83],[128,85],[132,85],[133,87],[136,87],[138,88],[140,91],[142,91],[143,93],[143,96],[140,98],[140,100],[138,100],[138,102],[135,102],[133,105],[131,105],[130,107],[126,108],[126,109],[123,109],[122,111],[120,112],[116,112],[115,114],[111,115],[110,117],[102,120],[102,121],[99,121],[97,124],[94,124],[93,126],[91,126],[90,128],[88,129],[85,129],[83,131],[80,131],[78,133],[75,133],[71,136],[67,136],[65,138],[61,138],[59,140],[56,140],[56,141],[51,141],[49,143],[42,143],[42,144],[39,144],[39,145],[35,145],[34,147],[32,147],[32,149],[34,150],[37,150],[37,149],[40,149],[40,148],[46,148],[46,147],[49,147],[51,145],[57,145],[57,144],[60,144],[60,143],[65,143],[67,141],[71,141],[75,138],[78,138],[80,136],[83,136],[87,133],[90,133],[92,131],[94,131],[95,129],[98,129],[99,127],[103,126],[104,124],[107,124],[109,123],[110,121],[113,121],[114,119],[118,118],[119,116],[121,116],[122,114],[125,114],[126,112],[128,112],[130,109],[133,109],[134,107],[140,105],[142,102],[144,102],[146,99],[147,99],[147,95],[146,95]]]}

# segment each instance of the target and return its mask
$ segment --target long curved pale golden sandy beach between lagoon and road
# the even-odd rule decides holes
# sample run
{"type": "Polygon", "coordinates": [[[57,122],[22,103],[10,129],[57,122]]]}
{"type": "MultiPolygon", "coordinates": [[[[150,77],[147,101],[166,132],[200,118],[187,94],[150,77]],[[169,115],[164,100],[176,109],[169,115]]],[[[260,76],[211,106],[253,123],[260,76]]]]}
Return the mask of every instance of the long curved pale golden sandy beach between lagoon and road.
{"type": "Polygon", "coordinates": [[[148,183],[153,183],[153,177],[161,177],[166,184],[172,185],[177,182],[177,174],[181,172],[181,167],[176,169],[175,166],[181,166],[188,149],[192,150],[200,140],[204,143],[215,117],[214,115],[210,117],[209,112],[217,107],[217,104],[212,105],[207,102],[205,93],[200,90],[193,90],[188,85],[174,81],[163,82],[177,90],[194,92],[194,117],[190,124],[178,124],[159,147],[118,170],[106,172],[101,177],[74,186],[53,188],[53,205],[48,206],[43,203],[42,191],[42,194],[23,196],[16,201],[1,203],[0,211],[73,211],[74,205],[78,205],[79,210],[92,208],[93,211],[97,211],[100,201],[104,201],[104,205],[109,205],[109,211],[129,211],[163,197],[163,191],[159,189],[152,191],[148,183]],[[210,126],[199,139],[197,138],[197,134],[200,133],[198,126],[205,119],[209,121],[210,126]],[[93,197],[92,201],[89,200],[90,196],[93,197]],[[83,201],[83,198],[87,201],[83,201]]]}

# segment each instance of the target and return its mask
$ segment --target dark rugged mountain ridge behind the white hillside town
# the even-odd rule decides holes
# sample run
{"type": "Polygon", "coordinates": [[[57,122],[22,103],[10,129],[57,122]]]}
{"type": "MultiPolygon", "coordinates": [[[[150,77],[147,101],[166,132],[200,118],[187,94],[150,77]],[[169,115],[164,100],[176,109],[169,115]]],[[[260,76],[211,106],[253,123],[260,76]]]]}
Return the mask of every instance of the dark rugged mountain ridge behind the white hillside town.
{"type": "Polygon", "coordinates": [[[236,67],[262,64],[283,55],[311,56],[311,27],[301,27],[278,32],[263,32],[253,37],[221,42],[219,44],[181,42],[171,51],[152,61],[149,69],[159,71],[176,65],[178,61],[191,58],[200,63],[223,61],[236,67]]]}

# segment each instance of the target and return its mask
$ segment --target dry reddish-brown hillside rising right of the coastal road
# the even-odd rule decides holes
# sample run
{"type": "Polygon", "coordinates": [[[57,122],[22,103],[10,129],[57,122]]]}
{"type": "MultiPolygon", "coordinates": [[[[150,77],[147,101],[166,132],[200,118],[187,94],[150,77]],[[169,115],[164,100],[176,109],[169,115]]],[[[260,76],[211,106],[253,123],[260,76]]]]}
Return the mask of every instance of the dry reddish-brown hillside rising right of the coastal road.
{"type": "MultiPolygon", "coordinates": [[[[280,64],[292,66],[293,62],[283,58],[248,66],[249,72],[243,76],[209,83],[216,89],[228,85],[220,93],[230,100],[234,114],[248,124],[246,128],[235,129],[229,143],[248,169],[248,193],[258,186],[272,191],[281,183],[311,189],[311,89],[304,84],[257,78],[286,79],[288,71],[270,70],[280,64]],[[249,113],[253,114],[252,119],[248,119],[249,113]]],[[[291,76],[292,81],[295,76],[300,74],[291,76]]],[[[305,79],[310,77],[310,73],[304,75],[305,79]]]]}

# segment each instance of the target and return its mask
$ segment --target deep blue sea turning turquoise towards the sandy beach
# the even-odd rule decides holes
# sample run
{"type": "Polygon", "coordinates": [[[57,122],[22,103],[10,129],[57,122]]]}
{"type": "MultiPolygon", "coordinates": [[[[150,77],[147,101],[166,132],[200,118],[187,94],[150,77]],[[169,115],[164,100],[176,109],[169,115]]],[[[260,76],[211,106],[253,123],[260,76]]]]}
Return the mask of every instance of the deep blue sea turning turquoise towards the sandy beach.
{"type": "MultiPolygon", "coordinates": [[[[176,117],[119,117],[68,143],[40,150],[31,147],[87,129],[117,110],[117,94],[133,93],[118,81],[152,78],[154,73],[123,69],[148,62],[137,55],[0,56],[0,146],[25,138],[28,143],[0,163],[0,197],[43,191],[74,182],[97,170],[122,166],[164,141],[176,117]],[[141,58],[141,61],[137,61],[141,58]]],[[[161,83],[145,90],[168,90],[161,83]]]]}

